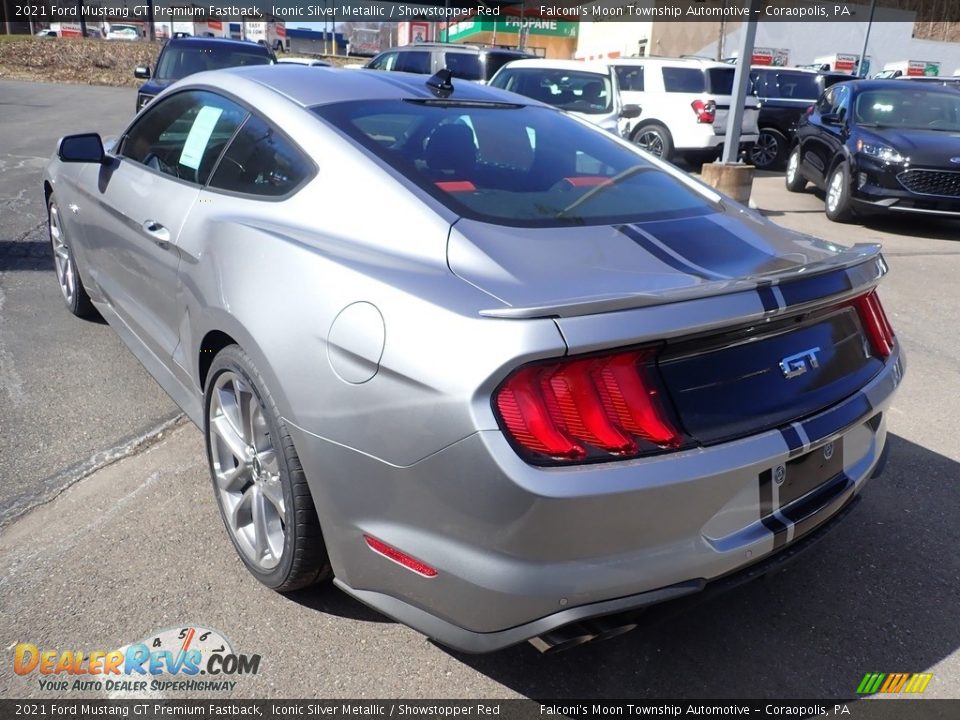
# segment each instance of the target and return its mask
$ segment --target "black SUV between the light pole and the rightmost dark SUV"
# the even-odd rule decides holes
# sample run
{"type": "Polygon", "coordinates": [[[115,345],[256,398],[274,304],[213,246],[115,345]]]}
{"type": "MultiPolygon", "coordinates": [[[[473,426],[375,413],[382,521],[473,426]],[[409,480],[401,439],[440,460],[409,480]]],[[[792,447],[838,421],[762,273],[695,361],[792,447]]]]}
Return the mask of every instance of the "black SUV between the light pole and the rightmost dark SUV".
{"type": "Polygon", "coordinates": [[[834,83],[851,80],[845,73],[802,68],[754,67],[750,92],[760,100],[760,135],[750,150],[750,162],[761,170],[783,166],[797,123],[821,93],[834,83]]]}

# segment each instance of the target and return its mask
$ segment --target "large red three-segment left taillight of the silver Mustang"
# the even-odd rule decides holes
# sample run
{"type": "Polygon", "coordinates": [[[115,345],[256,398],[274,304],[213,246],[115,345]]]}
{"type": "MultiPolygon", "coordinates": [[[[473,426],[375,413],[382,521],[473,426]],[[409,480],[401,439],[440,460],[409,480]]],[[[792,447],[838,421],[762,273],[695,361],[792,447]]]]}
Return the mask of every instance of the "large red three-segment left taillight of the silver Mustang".
{"type": "Polygon", "coordinates": [[[507,436],[537,464],[636,457],[684,441],[649,348],[527,365],[494,405],[507,436]]]}

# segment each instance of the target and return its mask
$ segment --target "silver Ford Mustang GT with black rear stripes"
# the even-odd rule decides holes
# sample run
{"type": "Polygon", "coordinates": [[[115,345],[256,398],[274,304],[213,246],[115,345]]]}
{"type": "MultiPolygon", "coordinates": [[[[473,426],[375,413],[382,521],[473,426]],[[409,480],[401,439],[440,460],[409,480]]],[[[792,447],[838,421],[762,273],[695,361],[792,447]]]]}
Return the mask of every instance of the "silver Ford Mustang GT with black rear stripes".
{"type": "Polygon", "coordinates": [[[556,650],[795,554],[882,465],[879,249],[528,98],[198,74],[116,142],[63,138],[43,190],[68,309],[203,429],[279,591],[556,650]]]}

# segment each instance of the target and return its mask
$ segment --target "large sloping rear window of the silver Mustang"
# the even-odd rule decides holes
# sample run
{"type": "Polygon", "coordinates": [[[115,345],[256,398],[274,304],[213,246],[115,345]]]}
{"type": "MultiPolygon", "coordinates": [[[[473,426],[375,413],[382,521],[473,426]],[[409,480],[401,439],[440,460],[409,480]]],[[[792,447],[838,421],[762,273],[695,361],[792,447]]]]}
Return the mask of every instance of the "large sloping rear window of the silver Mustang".
{"type": "Polygon", "coordinates": [[[557,227],[715,211],[608,133],[549,108],[383,100],[313,111],[474,220],[557,227]]]}

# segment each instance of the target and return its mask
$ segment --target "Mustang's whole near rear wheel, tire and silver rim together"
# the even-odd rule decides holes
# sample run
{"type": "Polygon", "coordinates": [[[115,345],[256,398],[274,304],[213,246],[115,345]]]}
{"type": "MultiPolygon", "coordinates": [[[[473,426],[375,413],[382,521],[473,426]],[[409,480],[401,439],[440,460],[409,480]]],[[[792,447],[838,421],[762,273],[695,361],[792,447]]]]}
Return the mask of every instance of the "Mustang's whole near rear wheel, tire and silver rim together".
{"type": "Polygon", "coordinates": [[[237,345],[214,358],[205,396],[213,488],[240,559],[260,582],[280,592],[329,577],[320,523],[293,441],[259,371],[237,345]]]}

